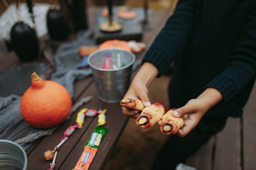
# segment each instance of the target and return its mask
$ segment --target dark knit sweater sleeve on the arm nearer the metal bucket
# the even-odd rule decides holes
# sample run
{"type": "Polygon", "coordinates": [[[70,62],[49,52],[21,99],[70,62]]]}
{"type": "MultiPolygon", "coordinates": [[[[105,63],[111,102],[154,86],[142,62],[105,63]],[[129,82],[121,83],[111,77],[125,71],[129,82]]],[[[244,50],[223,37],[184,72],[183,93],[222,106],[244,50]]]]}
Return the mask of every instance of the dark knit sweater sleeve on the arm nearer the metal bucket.
{"type": "Polygon", "coordinates": [[[168,18],[146,52],[142,63],[153,63],[159,70],[158,77],[169,68],[170,63],[186,45],[193,26],[194,11],[194,0],[180,0],[174,14],[168,18]]]}

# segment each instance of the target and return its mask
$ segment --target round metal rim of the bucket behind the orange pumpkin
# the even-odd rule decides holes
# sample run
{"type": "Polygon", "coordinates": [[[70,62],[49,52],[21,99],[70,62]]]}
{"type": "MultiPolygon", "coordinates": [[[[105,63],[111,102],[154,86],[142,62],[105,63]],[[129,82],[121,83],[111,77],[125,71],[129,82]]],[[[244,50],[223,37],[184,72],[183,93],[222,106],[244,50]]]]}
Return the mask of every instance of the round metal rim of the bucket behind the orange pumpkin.
{"type": "Polygon", "coordinates": [[[135,55],[134,55],[132,52],[129,52],[129,51],[126,51],[126,50],[122,50],[122,49],[120,49],[120,48],[109,48],[109,49],[97,50],[96,52],[93,52],[92,54],[89,55],[87,61],[88,61],[89,65],[90,65],[92,68],[96,69],[96,70],[100,70],[100,71],[118,71],[118,70],[122,70],[122,69],[125,69],[125,68],[130,67],[131,65],[133,65],[134,62],[135,62],[135,59],[136,59],[136,57],[135,57],[135,55]],[[90,62],[90,59],[92,58],[93,55],[95,55],[95,54],[97,54],[97,53],[100,53],[100,52],[102,52],[102,51],[108,52],[108,51],[113,51],[113,50],[114,50],[114,51],[120,51],[120,52],[125,52],[125,53],[131,54],[131,56],[133,57],[132,62],[131,62],[130,64],[128,64],[128,65],[126,65],[126,66],[124,66],[124,67],[120,67],[120,68],[118,68],[118,69],[104,69],[104,68],[98,68],[98,67],[95,67],[95,66],[90,62]]]}

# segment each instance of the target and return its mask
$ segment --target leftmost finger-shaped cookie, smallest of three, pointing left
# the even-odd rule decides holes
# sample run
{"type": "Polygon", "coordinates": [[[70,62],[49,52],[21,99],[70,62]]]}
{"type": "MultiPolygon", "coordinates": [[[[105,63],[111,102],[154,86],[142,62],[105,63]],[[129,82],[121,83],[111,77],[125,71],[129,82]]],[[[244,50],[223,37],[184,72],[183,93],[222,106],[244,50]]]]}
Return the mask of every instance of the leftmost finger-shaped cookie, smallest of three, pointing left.
{"type": "Polygon", "coordinates": [[[121,100],[120,105],[132,110],[142,111],[144,109],[144,105],[139,99],[123,99],[121,100]]]}

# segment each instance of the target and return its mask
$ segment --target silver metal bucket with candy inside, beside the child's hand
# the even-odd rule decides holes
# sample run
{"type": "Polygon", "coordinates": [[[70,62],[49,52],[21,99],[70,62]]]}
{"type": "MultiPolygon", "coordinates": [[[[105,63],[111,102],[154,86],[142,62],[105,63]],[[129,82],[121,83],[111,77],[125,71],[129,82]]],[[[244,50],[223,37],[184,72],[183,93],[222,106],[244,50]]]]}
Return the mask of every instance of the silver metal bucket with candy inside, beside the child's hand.
{"type": "Polygon", "coordinates": [[[123,98],[130,86],[134,61],[133,53],[117,48],[96,51],[88,57],[100,100],[117,103],[123,98]]]}

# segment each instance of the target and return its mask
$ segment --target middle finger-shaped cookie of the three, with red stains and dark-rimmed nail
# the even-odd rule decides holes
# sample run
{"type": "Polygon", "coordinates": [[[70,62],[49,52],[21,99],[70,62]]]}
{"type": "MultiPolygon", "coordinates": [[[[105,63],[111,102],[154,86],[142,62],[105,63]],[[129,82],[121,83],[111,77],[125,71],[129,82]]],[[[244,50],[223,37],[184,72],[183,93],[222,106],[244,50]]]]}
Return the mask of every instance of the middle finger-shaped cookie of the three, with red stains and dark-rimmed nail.
{"type": "Polygon", "coordinates": [[[159,120],[161,120],[164,113],[164,104],[155,102],[151,106],[145,107],[142,110],[141,114],[136,119],[136,124],[141,128],[150,128],[159,120]]]}

